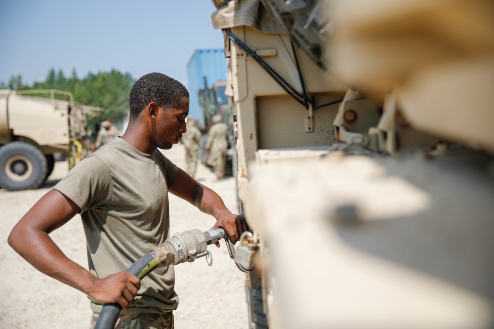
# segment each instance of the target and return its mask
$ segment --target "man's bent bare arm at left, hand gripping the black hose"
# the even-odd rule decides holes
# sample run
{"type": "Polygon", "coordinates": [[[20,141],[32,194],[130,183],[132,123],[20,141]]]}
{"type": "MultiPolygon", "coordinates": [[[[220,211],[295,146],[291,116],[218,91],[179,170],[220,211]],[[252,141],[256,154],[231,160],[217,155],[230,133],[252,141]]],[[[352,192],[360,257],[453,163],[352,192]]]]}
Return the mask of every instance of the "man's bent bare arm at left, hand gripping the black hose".
{"type": "Polygon", "coordinates": [[[8,244],[42,273],[94,298],[100,303],[118,302],[124,310],[135,297],[139,279],[125,272],[98,279],[69,259],[49,237],[80,211],[58,190],[51,190],[14,226],[8,244]]]}

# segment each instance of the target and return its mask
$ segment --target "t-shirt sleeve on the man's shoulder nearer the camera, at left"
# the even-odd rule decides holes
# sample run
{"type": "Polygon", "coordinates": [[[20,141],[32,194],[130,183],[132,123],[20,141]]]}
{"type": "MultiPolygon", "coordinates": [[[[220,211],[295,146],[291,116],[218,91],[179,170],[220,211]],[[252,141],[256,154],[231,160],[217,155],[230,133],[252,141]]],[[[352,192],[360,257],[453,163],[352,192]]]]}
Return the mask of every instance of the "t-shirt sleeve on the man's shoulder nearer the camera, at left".
{"type": "Polygon", "coordinates": [[[72,168],[53,187],[74,201],[81,213],[93,207],[105,207],[112,195],[112,180],[105,163],[90,156],[72,168]]]}

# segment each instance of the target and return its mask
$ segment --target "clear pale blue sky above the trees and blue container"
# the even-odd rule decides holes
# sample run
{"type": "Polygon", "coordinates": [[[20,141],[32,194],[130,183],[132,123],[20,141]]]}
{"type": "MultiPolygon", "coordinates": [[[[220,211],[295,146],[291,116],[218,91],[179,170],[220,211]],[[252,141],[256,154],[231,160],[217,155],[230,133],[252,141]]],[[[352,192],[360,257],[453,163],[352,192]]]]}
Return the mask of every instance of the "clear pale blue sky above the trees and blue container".
{"type": "Polygon", "coordinates": [[[61,69],[161,72],[187,85],[195,49],[222,48],[210,0],[0,0],[0,81],[61,69]]]}

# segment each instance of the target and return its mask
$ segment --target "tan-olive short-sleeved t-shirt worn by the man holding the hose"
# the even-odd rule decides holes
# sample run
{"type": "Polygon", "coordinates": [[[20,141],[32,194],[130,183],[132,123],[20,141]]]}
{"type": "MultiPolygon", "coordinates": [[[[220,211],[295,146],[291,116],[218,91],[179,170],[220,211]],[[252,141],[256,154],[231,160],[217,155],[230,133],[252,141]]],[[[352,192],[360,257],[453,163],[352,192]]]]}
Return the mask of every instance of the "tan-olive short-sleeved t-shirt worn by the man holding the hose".
{"type": "MultiPolygon", "coordinates": [[[[89,271],[125,271],[169,237],[168,187],[178,169],[158,149],[142,153],[122,138],[86,157],[54,188],[81,208],[89,271]]],[[[123,313],[165,313],[178,306],[173,266],[157,268],[123,313]]],[[[91,299],[99,313],[101,304],[91,299]]]]}

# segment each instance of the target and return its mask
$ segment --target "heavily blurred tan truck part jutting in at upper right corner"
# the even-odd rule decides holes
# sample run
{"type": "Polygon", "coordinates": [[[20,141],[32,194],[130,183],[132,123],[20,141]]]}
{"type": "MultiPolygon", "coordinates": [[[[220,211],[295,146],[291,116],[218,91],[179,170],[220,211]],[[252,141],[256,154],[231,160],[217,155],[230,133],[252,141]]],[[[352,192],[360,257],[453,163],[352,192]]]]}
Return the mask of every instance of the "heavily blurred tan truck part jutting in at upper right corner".
{"type": "Polygon", "coordinates": [[[383,110],[394,93],[416,130],[494,152],[493,1],[332,3],[332,73],[383,110]]]}

